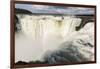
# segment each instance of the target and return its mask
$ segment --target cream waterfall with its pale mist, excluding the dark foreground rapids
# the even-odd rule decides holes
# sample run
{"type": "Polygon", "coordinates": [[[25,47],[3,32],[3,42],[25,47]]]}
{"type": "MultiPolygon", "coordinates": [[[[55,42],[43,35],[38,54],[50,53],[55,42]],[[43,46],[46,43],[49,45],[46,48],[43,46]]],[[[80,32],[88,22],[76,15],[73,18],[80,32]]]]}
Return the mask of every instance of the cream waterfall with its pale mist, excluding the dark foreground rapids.
{"type": "Polygon", "coordinates": [[[15,36],[16,62],[42,60],[45,52],[55,51],[63,42],[77,37],[71,35],[81,23],[75,16],[17,14],[17,17],[21,30],[15,36]]]}

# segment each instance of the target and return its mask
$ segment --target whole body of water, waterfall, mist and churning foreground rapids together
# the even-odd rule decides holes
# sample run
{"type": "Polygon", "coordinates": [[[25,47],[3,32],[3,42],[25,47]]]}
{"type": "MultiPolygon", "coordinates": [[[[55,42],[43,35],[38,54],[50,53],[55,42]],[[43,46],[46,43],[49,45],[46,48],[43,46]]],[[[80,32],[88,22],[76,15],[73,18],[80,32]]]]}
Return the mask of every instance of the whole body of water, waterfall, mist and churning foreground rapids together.
{"type": "Polygon", "coordinates": [[[77,61],[94,60],[94,22],[76,31],[82,19],[75,16],[17,14],[17,17],[19,23],[16,24],[15,62],[45,60],[56,63],[61,58],[67,61],[70,54],[77,61]],[[69,55],[61,56],[59,52],[69,52],[69,55]]]}

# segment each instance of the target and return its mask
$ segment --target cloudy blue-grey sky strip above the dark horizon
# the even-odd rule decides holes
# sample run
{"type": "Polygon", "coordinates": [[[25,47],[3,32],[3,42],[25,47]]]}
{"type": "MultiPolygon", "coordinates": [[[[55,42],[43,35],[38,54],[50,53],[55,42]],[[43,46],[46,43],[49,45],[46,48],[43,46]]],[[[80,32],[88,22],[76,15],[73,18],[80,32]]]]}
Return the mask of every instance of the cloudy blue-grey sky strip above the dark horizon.
{"type": "Polygon", "coordinates": [[[66,6],[49,6],[35,4],[15,4],[15,8],[26,9],[32,13],[57,13],[57,14],[94,14],[94,8],[84,7],[66,7],[66,6]]]}

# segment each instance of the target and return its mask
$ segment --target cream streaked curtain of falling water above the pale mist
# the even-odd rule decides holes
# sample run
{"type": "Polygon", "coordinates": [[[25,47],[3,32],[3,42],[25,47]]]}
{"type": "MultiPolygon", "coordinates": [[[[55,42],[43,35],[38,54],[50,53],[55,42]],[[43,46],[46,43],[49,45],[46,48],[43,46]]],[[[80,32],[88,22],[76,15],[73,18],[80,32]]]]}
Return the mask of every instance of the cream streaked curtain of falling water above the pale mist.
{"type": "MultiPolygon", "coordinates": [[[[45,17],[46,15],[44,15],[45,17]]],[[[21,19],[22,30],[25,34],[32,34],[34,39],[40,38],[45,32],[52,32],[57,30],[61,33],[61,36],[75,31],[75,26],[79,25],[81,19],[71,16],[65,16],[65,19],[61,20],[61,17],[49,17],[43,20],[42,16],[30,16],[26,15],[21,19]]]]}

